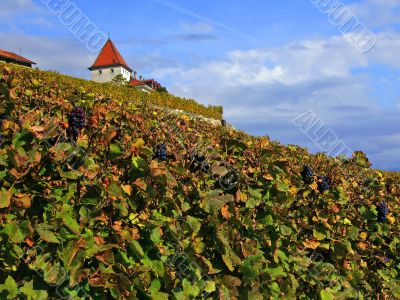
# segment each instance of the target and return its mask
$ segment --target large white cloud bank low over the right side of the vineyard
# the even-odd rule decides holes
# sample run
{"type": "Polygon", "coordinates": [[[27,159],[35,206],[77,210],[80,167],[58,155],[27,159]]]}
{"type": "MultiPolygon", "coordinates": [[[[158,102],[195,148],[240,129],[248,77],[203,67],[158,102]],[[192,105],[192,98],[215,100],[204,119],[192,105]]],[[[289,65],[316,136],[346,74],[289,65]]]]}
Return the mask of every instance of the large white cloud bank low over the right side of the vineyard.
{"type": "Polygon", "coordinates": [[[375,166],[400,169],[393,155],[400,153],[395,130],[400,110],[384,108],[370,95],[371,74],[353,74],[373,63],[400,69],[394,59],[399,41],[399,34],[381,33],[376,47],[364,54],[341,36],[304,40],[233,51],[219,60],[161,68],[152,75],[169,79],[175,94],[223,105],[225,117],[240,129],[318,150],[292,123],[312,110],[352,149],[366,151],[375,166]]]}

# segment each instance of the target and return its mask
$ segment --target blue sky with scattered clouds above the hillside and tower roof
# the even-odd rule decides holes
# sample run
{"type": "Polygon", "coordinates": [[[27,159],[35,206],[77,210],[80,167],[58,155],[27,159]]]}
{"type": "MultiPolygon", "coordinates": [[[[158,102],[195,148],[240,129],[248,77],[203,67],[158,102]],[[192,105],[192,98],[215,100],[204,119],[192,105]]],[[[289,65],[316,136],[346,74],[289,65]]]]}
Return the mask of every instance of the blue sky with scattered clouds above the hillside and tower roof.
{"type": "Polygon", "coordinates": [[[400,170],[400,0],[0,0],[0,48],[90,79],[98,47],[68,7],[132,69],[223,106],[237,129],[313,153],[330,154],[330,136],[400,170]]]}

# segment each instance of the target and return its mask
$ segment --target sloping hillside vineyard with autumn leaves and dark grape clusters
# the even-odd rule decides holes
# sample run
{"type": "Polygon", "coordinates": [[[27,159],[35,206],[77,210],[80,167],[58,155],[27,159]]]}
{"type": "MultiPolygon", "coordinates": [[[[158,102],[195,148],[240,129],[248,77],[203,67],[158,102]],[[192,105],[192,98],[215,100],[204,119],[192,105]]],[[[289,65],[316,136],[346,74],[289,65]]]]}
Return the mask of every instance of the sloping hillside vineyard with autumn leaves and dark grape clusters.
{"type": "Polygon", "coordinates": [[[221,118],[173,96],[0,74],[0,299],[400,298],[400,177],[362,152],[150,106],[221,118]]]}

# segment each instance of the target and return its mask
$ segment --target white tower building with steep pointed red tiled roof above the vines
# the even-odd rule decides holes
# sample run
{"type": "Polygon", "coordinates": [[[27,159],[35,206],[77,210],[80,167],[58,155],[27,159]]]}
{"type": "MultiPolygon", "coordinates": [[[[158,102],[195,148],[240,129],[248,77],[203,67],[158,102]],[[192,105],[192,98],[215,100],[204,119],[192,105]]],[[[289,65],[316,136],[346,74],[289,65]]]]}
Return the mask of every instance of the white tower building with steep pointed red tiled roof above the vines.
{"type": "Polygon", "coordinates": [[[92,80],[96,82],[111,82],[116,76],[122,75],[128,86],[142,91],[150,92],[161,87],[154,79],[144,80],[142,76],[138,79],[137,72],[128,66],[111,39],[107,40],[89,70],[92,72],[92,80]]]}

